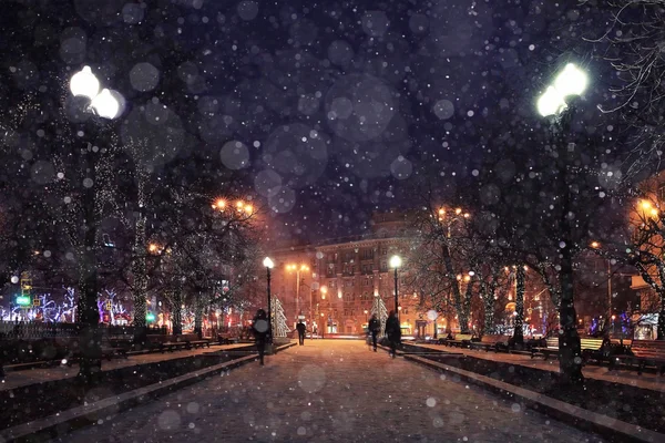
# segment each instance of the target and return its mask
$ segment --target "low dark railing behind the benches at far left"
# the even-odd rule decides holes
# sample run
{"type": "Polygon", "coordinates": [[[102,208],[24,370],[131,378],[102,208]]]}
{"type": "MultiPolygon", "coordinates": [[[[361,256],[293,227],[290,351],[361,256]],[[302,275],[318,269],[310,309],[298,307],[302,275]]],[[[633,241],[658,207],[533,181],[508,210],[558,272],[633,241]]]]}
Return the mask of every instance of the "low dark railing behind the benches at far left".
{"type": "MultiPolygon", "coordinates": [[[[4,340],[39,340],[76,337],[76,323],[42,323],[24,321],[0,321],[0,338],[4,340]]],[[[129,338],[134,336],[132,326],[100,324],[104,337],[129,338]]],[[[165,336],[166,327],[149,327],[149,334],[165,336]]]]}

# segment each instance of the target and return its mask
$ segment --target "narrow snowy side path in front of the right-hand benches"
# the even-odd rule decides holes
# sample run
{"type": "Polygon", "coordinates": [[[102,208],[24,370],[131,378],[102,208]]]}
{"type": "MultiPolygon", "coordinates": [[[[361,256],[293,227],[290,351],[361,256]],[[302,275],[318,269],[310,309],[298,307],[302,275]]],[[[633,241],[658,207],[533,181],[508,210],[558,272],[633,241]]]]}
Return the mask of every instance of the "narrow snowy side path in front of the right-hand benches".
{"type": "MultiPolygon", "coordinates": [[[[520,364],[528,368],[536,368],[545,371],[559,372],[559,360],[543,360],[542,357],[531,358],[521,353],[505,353],[505,352],[485,352],[471,349],[449,348],[442,344],[418,344],[422,348],[436,349],[439,351],[448,351],[454,353],[464,353],[470,357],[479,359],[503,361],[512,364],[520,364]]],[[[614,383],[628,384],[631,387],[651,389],[653,391],[665,392],[665,377],[656,373],[645,372],[642,375],[637,374],[635,369],[617,369],[611,371],[606,365],[600,367],[597,364],[589,364],[582,370],[584,377],[591,379],[597,379],[603,381],[611,381],[614,383]]]]}

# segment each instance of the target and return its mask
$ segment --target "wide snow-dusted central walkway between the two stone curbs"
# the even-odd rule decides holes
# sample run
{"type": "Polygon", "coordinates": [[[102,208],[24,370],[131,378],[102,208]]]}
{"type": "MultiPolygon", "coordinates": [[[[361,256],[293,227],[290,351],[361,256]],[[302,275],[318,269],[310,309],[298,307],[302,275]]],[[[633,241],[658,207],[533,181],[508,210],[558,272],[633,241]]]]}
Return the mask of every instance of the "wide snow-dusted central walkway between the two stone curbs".
{"type": "Polygon", "coordinates": [[[61,442],[601,442],[362,341],[308,340],[61,442]]]}

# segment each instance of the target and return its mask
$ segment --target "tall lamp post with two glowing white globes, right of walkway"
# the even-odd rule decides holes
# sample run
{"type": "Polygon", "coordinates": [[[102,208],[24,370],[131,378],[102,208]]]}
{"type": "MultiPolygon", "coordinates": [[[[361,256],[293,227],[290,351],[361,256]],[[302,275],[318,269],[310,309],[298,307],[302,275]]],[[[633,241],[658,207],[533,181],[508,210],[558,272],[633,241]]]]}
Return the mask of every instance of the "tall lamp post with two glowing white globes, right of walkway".
{"type": "MultiPolygon", "coordinates": [[[[562,128],[567,125],[570,115],[570,97],[581,95],[589,79],[586,73],[575,64],[569,63],[563,71],[554,79],[545,92],[538,99],[538,112],[543,117],[549,117],[552,122],[552,132],[554,137],[561,136],[562,128]],[[569,112],[566,112],[569,111],[569,112]]],[[[556,145],[563,145],[563,140],[556,145]]],[[[565,169],[565,166],[560,169],[565,169]]],[[[559,179],[565,181],[567,171],[559,172],[559,179]]],[[[561,183],[561,189],[565,189],[567,184],[561,183]]],[[[582,350],[580,337],[577,336],[577,320],[573,293],[573,251],[571,249],[573,226],[567,217],[564,217],[561,225],[561,261],[559,268],[559,278],[561,280],[561,300],[559,306],[559,318],[561,323],[561,333],[559,334],[559,363],[560,371],[565,379],[573,383],[580,383],[584,380],[582,374],[582,350]]]]}

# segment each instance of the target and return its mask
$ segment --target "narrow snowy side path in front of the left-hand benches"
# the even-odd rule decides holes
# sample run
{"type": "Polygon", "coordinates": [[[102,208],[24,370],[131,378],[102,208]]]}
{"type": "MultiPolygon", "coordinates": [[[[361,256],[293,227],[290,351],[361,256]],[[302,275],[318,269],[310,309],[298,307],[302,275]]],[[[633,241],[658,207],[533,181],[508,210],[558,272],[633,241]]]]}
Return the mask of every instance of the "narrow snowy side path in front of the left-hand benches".
{"type": "MultiPolygon", "coordinates": [[[[209,348],[200,348],[192,350],[180,350],[173,352],[153,352],[137,356],[130,356],[126,359],[113,359],[111,361],[102,360],[102,371],[109,371],[117,368],[132,367],[134,364],[154,363],[156,361],[182,359],[183,357],[198,356],[206,352],[216,352],[234,348],[244,348],[247,343],[211,346],[209,348]]],[[[24,387],[27,384],[41,383],[76,377],[79,364],[58,365],[53,368],[27,369],[23,371],[11,371],[4,374],[4,380],[0,380],[0,391],[24,387]]]]}

